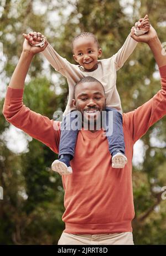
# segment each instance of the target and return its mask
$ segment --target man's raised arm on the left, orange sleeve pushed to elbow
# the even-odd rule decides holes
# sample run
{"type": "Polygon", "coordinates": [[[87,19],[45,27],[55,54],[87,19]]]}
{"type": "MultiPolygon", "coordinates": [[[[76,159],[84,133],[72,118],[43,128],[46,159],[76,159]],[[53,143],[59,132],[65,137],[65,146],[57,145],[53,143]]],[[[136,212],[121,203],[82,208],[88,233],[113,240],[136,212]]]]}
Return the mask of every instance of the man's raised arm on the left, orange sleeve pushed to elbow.
{"type": "Polygon", "coordinates": [[[32,47],[24,40],[22,54],[8,86],[3,115],[8,122],[58,153],[59,131],[55,131],[54,127],[59,126],[59,122],[55,122],[53,127],[53,120],[31,111],[23,104],[24,82],[29,65],[34,55],[40,51],[41,48],[32,47]]]}

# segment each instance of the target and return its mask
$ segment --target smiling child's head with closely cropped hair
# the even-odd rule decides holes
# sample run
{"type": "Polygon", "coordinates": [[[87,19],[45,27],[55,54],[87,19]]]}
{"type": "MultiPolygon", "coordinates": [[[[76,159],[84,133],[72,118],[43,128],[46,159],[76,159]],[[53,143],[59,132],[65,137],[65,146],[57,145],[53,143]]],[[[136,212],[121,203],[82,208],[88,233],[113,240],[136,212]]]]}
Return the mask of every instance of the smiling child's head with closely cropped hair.
{"type": "Polygon", "coordinates": [[[86,71],[97,69],[97,59],[101,57],[102,51],[98,49],[93,37],[81,37],[74,41],[74,59],[84,67],[86,71]]]}

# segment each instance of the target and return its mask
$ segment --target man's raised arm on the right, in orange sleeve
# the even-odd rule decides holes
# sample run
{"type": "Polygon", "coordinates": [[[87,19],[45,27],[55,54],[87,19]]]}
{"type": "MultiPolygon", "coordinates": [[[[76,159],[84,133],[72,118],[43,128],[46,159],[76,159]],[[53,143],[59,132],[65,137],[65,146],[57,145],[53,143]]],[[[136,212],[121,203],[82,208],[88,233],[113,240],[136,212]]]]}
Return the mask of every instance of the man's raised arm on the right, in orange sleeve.
{"type": "Polygon", "coordinates": [[[160,120],[166,114],[166,54],[162,44],[151,26],[148,34],[136,37],[132,30],[132,38],[139,42],[144,42],[149,45],[154,55],[154,58],[159,66],[162,88],[154,97],[147,103],[138,107],[132,112],[123,115],[124,124],[132,133],[133,141],[136,142],[144,134],[149,127],[160,120]]]}

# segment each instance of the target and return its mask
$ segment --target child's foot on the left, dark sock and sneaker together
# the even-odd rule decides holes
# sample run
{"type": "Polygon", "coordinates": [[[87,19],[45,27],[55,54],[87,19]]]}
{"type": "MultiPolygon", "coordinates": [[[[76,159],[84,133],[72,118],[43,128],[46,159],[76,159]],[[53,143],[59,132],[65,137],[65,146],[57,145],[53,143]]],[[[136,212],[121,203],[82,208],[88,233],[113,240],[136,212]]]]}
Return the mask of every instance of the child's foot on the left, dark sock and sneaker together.
{"type": "Polygon", "coordinates": [[[71,160],[71,155],[69,154],[60,155],[60,159],[55,160],[52,163],[51,168],[53,171],[59,172],[60,175],[69,175],[72,173],[70,160],[71,160]]]}

